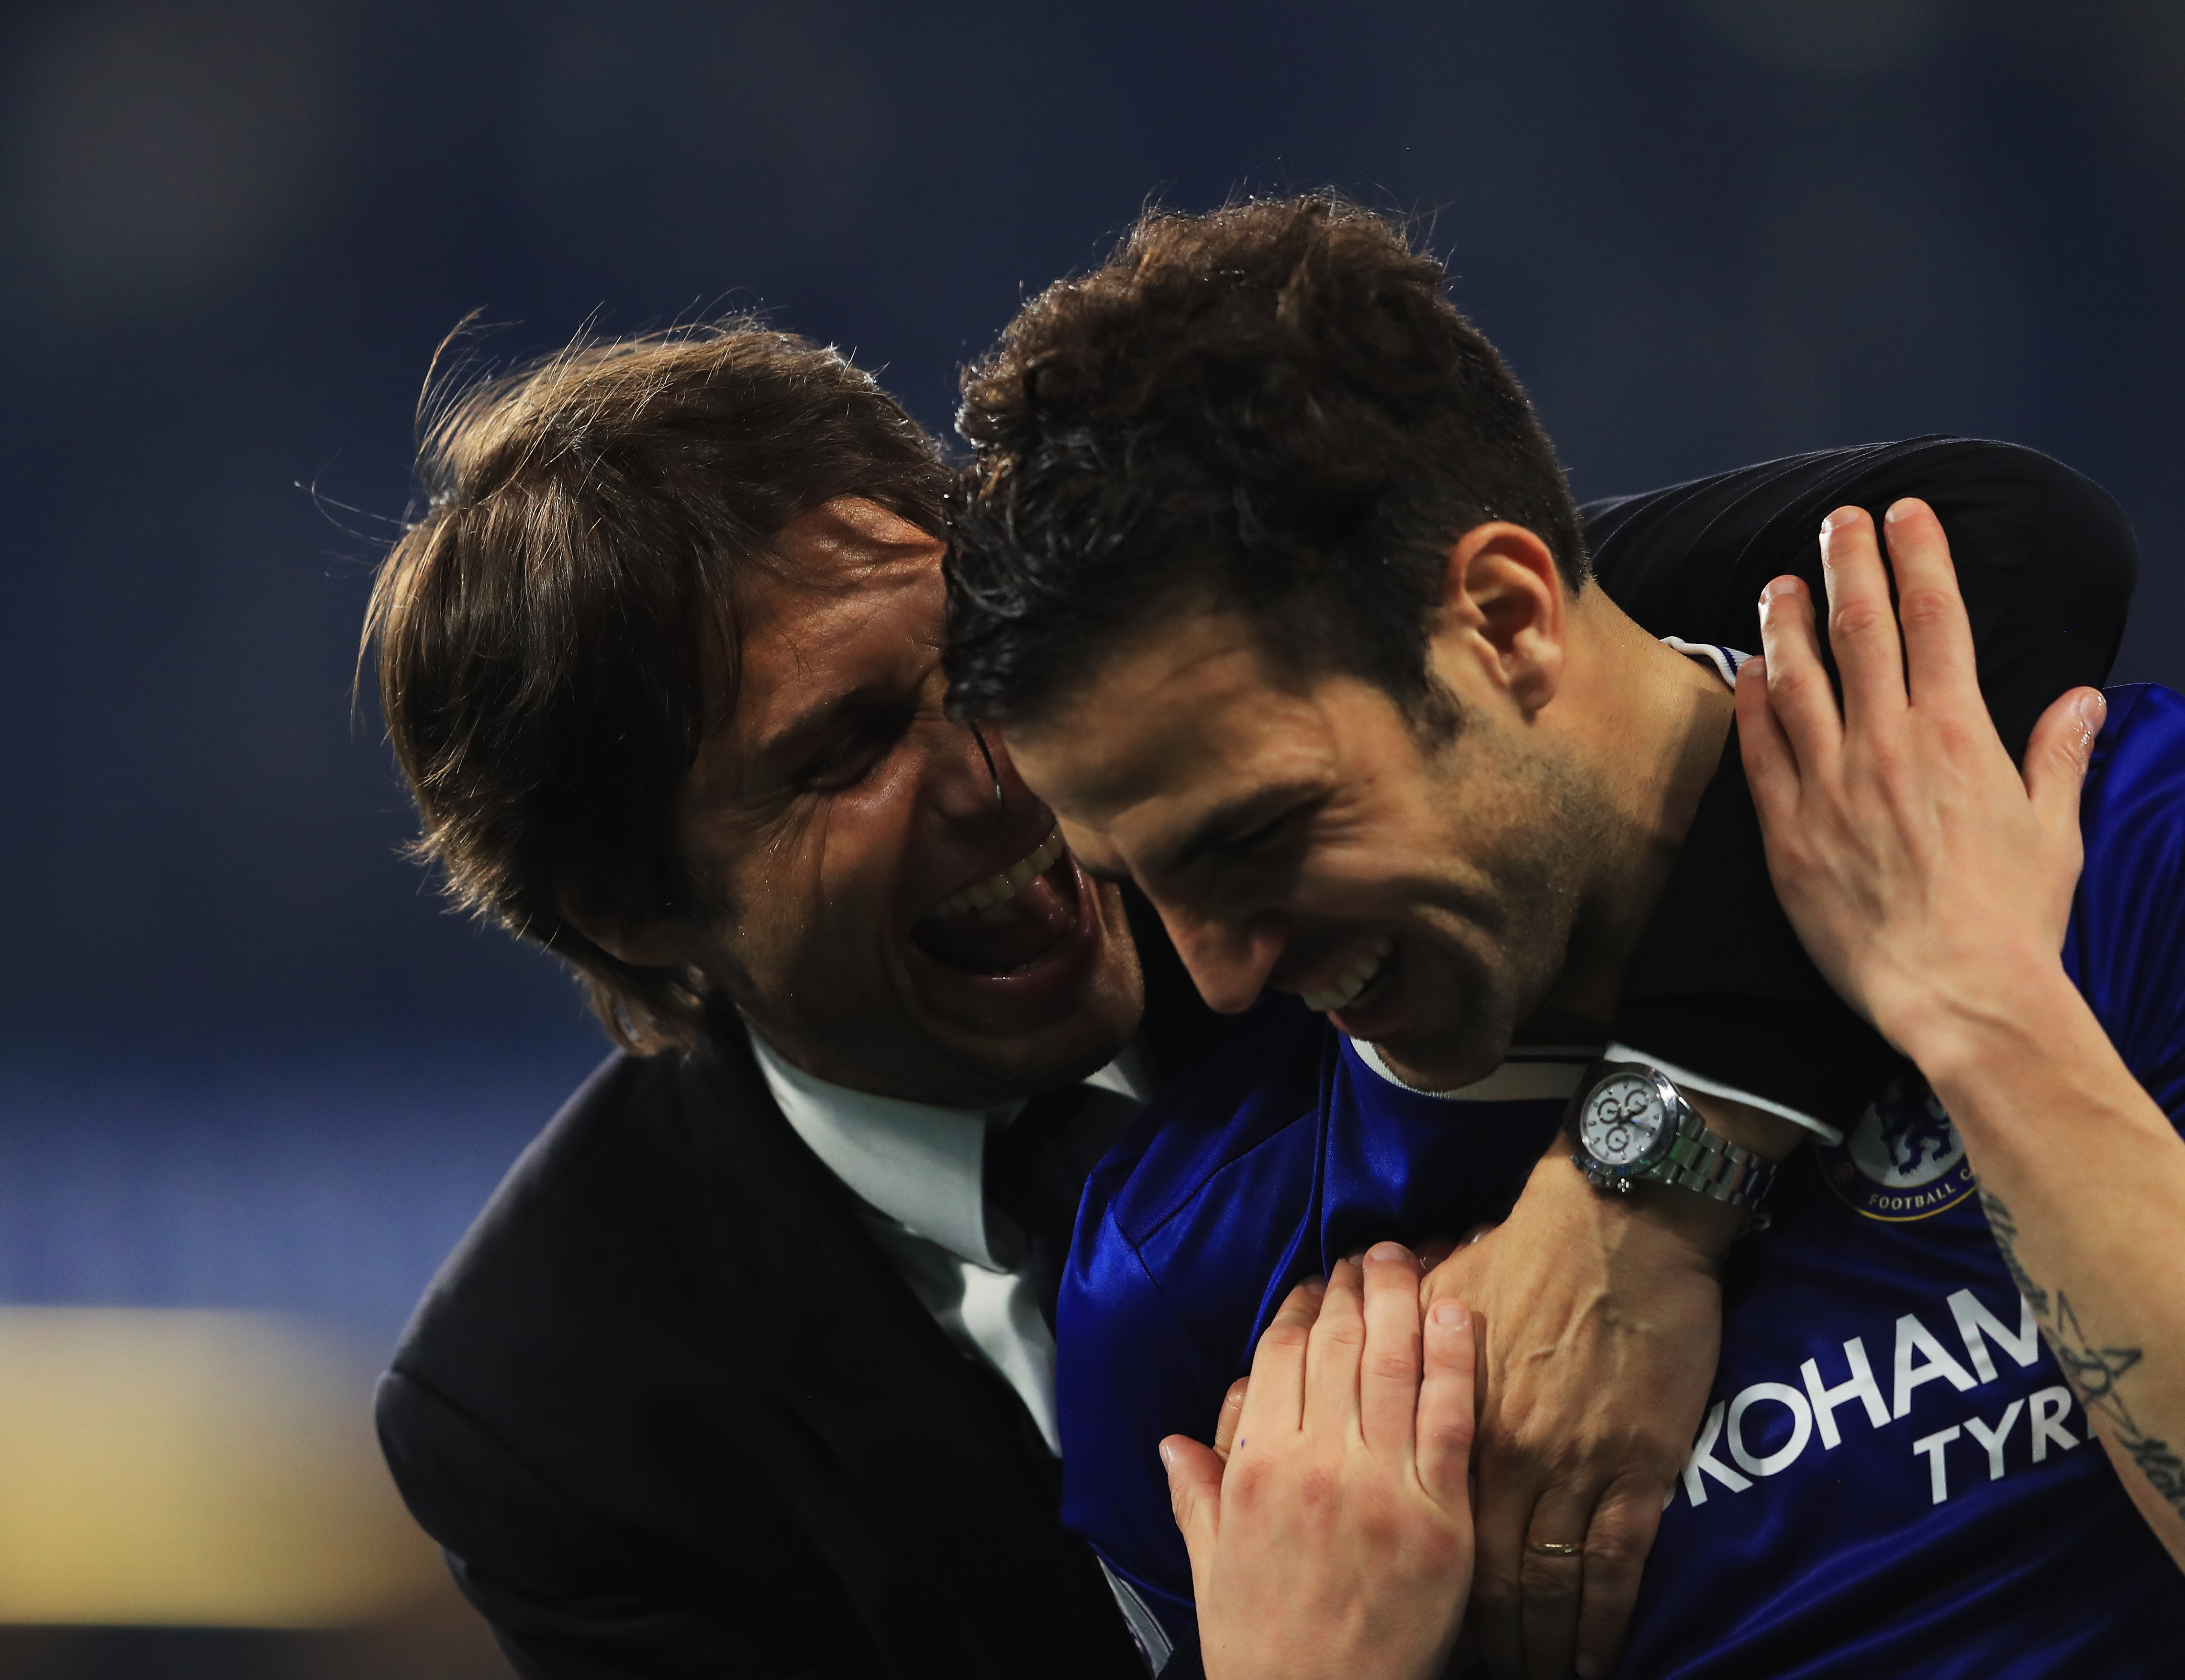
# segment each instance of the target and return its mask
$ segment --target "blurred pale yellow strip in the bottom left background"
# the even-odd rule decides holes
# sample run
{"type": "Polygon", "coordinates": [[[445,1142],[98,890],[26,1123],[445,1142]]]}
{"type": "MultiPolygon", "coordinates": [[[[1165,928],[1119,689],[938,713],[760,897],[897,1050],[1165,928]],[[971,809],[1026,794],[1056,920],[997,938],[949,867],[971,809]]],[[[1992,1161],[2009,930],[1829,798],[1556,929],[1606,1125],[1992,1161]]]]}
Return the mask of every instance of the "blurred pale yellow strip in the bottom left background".
{"type": "Polygon", "coordinates": [[[0,1309],[0,1671],[500,1673],[363,1427],[371,1363],[267,1313],[0,1309]]]}

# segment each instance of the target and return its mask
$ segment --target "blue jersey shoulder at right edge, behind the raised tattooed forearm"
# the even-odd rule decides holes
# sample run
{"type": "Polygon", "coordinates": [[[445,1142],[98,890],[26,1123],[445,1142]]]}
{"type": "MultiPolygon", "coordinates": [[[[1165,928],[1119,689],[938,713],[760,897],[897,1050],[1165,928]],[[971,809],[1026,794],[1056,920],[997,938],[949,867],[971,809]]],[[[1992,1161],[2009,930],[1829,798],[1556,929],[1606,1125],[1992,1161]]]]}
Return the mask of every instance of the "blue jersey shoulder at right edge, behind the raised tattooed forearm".
{"type": "Polygon", "coordinates": [[[2185,697],[2109,690],[2080,830],[2065,966],[2139,1084],[2185,1125],[2185,697]]]}

